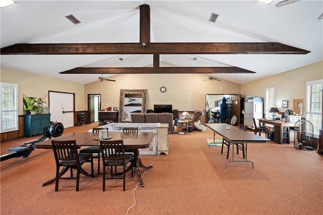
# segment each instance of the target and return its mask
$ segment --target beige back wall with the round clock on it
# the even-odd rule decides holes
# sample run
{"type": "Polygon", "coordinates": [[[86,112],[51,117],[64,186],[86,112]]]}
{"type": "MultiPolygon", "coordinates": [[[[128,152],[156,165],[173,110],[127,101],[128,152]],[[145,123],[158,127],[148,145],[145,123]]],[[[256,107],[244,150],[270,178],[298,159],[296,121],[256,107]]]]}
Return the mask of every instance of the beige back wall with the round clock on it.
{"type": "MultiPolygon", "coordinates": [[[[120,89],[148,89],[147,109],[154,104],[172,104],[179,111],[205,110],[205,94],[240,94],[240,84],[222,81],[203,81],[205,74],[121,74],[111,76],[116,82],[92,82],[85,85],[85,93],[101,94],[101,108],[117,106],[119,110],[120,89]],[[160,92],[165,86],[166,92],[160,92]],[[222,87],[222,89],[221,89],[222,87]],[[185,103],[185,100],[189,100],[185,103]]],[[[86,97],[85,97],[86,98],[86,97]]],[[[87,100],[84,100],[87,102],[87,100]]]]}

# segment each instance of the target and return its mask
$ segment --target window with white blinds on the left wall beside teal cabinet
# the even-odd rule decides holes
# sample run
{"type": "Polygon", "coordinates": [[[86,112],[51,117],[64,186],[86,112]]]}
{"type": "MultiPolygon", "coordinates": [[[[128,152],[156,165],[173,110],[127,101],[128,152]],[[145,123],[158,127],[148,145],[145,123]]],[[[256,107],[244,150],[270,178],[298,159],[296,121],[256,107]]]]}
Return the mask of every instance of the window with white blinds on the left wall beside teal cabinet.
{"type": "Polygon", "coordinates": [[[18,85],[0,83],[1,85],[1,127],[0,132],[18,130],[18,85]]]}

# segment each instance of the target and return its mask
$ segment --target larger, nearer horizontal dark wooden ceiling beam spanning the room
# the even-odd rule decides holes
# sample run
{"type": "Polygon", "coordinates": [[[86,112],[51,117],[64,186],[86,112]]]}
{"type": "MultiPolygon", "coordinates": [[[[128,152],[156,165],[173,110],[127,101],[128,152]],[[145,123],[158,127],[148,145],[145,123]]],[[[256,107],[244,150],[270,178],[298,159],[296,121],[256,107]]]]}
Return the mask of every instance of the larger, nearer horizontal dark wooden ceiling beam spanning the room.
{"type": "Polygon", "coordinates": [[[179,43],[45,43],[14,44],[1,55],[134,55],[134,54],[306,54],[310,51],[279,42],[179,43]]]}

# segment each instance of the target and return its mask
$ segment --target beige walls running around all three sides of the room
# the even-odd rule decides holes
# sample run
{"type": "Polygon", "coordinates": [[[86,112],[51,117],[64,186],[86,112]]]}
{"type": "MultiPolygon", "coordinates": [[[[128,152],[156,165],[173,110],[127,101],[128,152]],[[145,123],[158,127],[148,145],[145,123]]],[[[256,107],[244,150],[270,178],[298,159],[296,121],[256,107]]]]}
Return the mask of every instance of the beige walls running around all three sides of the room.
{"type": "MultiPolygon", "coordinates": [[[[153,104],[173,104],[180,111],[205,110],[205,94],[241,94],[265,97],[265,89],[275,87],[275,106],[281,108],[282,100],[289,101],[289,109],[295,98],[303,98],[307,81],[323,79],[323,61],[291,71],[259,79],[247,84],[226,80],[202,81],[205,74],[121,74],[109,77],[112,81],[95,81],[86,85],[48,78],[8,68],[1,68],[1,82],[18,84],[19,115],[22,112],[23,94],[43,97],[48,90],[75,93],[75,111],[87,110],[87,94],[101,94],[102,108],[116,106],[119,109],[120,89],[148,89],[147,109],[153,104]],[[167,91],[159,91],[165,86],[167,91]],[[222,87],[222,89],[221,89],[222,87]],[[185,103],[185,100],[189,100],[185,103]]],[[[48,103],[48,96],[46,97],[48,103]]],[[[287,109],[279,109],[285,111],[287,109]]]]}

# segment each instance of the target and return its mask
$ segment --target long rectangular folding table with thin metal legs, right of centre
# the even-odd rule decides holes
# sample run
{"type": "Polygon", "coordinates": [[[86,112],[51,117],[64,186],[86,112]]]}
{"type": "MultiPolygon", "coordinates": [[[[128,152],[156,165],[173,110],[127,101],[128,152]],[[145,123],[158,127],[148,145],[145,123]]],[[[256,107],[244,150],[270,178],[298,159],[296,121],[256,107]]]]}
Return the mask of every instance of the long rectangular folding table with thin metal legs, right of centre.
{"type": "Polygon", "coordinates": [[[213,130],[213,138],[215,140],[216,134],[222,136],[227,142],[233,143],[232,144],[232,160],[228,160],[227,164],[230,162],[250,162],[252,164],[253,169],[253,162],[247,159],[247,149],[248,143],[267,143],[270,141],[264,137],[260,137],[258,135],[252,134],[250,132],[244,131],[242,129],[236,128],[234,126],[230,126],[226,123],[205,123],[207,127],[213,130]],[[230,126],[230,130],[226,127],[230,126]],[[245,143],[245,160],[234,160],[234,145],[235,143],[245,143]]]}

